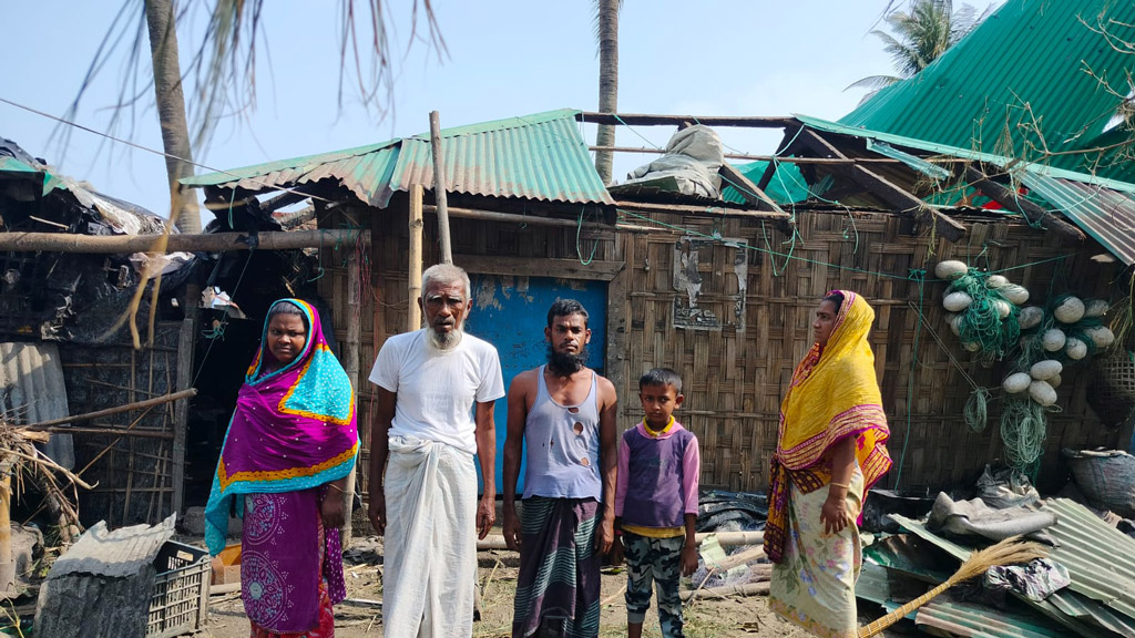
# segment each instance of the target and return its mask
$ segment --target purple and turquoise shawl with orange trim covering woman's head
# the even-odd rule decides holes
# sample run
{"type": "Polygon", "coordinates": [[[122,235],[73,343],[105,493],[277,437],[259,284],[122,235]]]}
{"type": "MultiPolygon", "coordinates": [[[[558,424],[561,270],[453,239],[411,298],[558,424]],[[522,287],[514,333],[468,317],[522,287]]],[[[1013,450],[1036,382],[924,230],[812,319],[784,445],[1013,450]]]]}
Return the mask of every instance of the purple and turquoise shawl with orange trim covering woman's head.
{"type": "Polygon", "coordinates": [[[205,506],[205,543],[213,554],[225,548],[234,496],[297,492],[340,479],[359,452],[354,392],[327,345],[319,313],[295,299],[279,300],[272,309],[237,395],[205,506]],[[268,324],[281,303],[303,313],[308,341],[289,363],[261,376],[264,358],[272,356],[268,324]]]}

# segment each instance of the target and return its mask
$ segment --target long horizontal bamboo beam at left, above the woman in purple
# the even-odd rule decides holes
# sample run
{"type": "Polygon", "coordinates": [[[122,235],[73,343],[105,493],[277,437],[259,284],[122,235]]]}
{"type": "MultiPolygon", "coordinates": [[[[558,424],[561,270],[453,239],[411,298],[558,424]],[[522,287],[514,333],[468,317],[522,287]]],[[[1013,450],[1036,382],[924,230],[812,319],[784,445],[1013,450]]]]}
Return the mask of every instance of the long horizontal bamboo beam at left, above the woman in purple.
{"type": "MultiPolygon", "coordinates": [[[[257,250],[299,250],[335,247],[362,241],[370,243],[370,230],[319,229],[272,230],[257,235],[257,250]]],[[[68,233],[0,233],[0,252],[66,252],[125,254],[151,252],[161,235],[73,235],[68,233]]],[[[225,252],[249,250],[245,233],[171,234],[168,252],[225,252]]]]}

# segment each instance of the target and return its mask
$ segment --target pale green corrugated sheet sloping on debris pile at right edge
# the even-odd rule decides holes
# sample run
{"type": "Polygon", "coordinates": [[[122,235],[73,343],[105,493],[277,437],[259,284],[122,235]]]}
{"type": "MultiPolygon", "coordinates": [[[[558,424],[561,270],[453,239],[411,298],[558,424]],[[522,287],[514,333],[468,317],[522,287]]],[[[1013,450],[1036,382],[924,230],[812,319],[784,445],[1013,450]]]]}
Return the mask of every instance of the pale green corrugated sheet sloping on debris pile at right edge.
{"type": "Polygon", "coordinates": [[[1135,619],[1135,539],[1067,498],[1041,509],[1058,518],[1048,530],[1060,542],[1051,557],[1068,569],[1069,588],[1135,619]]]}

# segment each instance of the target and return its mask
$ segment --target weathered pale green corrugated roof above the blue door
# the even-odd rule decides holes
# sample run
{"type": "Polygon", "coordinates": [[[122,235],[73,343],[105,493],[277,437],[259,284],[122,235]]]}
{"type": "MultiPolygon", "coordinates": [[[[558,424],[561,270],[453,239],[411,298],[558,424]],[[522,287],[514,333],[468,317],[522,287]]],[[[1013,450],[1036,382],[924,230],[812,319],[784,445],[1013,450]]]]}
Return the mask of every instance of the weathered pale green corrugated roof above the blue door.
{"type": "MultiPolygon", "coordinates": [[[[563,109],[442,131],[446,188],[454,193],[573,203],[613,203],[575,124],[563,109]]],[[[411,184],[434,185],[429,135],[201,175],[186,186],[274,191],[337,181],[385,208],[411,184]]]]}

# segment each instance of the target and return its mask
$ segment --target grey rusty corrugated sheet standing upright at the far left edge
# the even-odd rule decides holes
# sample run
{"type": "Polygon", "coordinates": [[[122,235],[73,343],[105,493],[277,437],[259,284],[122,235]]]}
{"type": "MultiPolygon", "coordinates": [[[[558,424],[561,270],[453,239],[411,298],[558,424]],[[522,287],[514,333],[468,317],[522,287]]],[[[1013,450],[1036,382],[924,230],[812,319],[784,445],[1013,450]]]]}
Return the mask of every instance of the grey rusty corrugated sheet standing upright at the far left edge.
{"type": "MultiPolygon", "coordinates": [[[[53,343],[0,343],[0,413],[19,423],[69,414],[64,368],[53,343]]],[[[69,434],[53,434],[43,452],[60,465],[75,467],[69,434]]]]}

